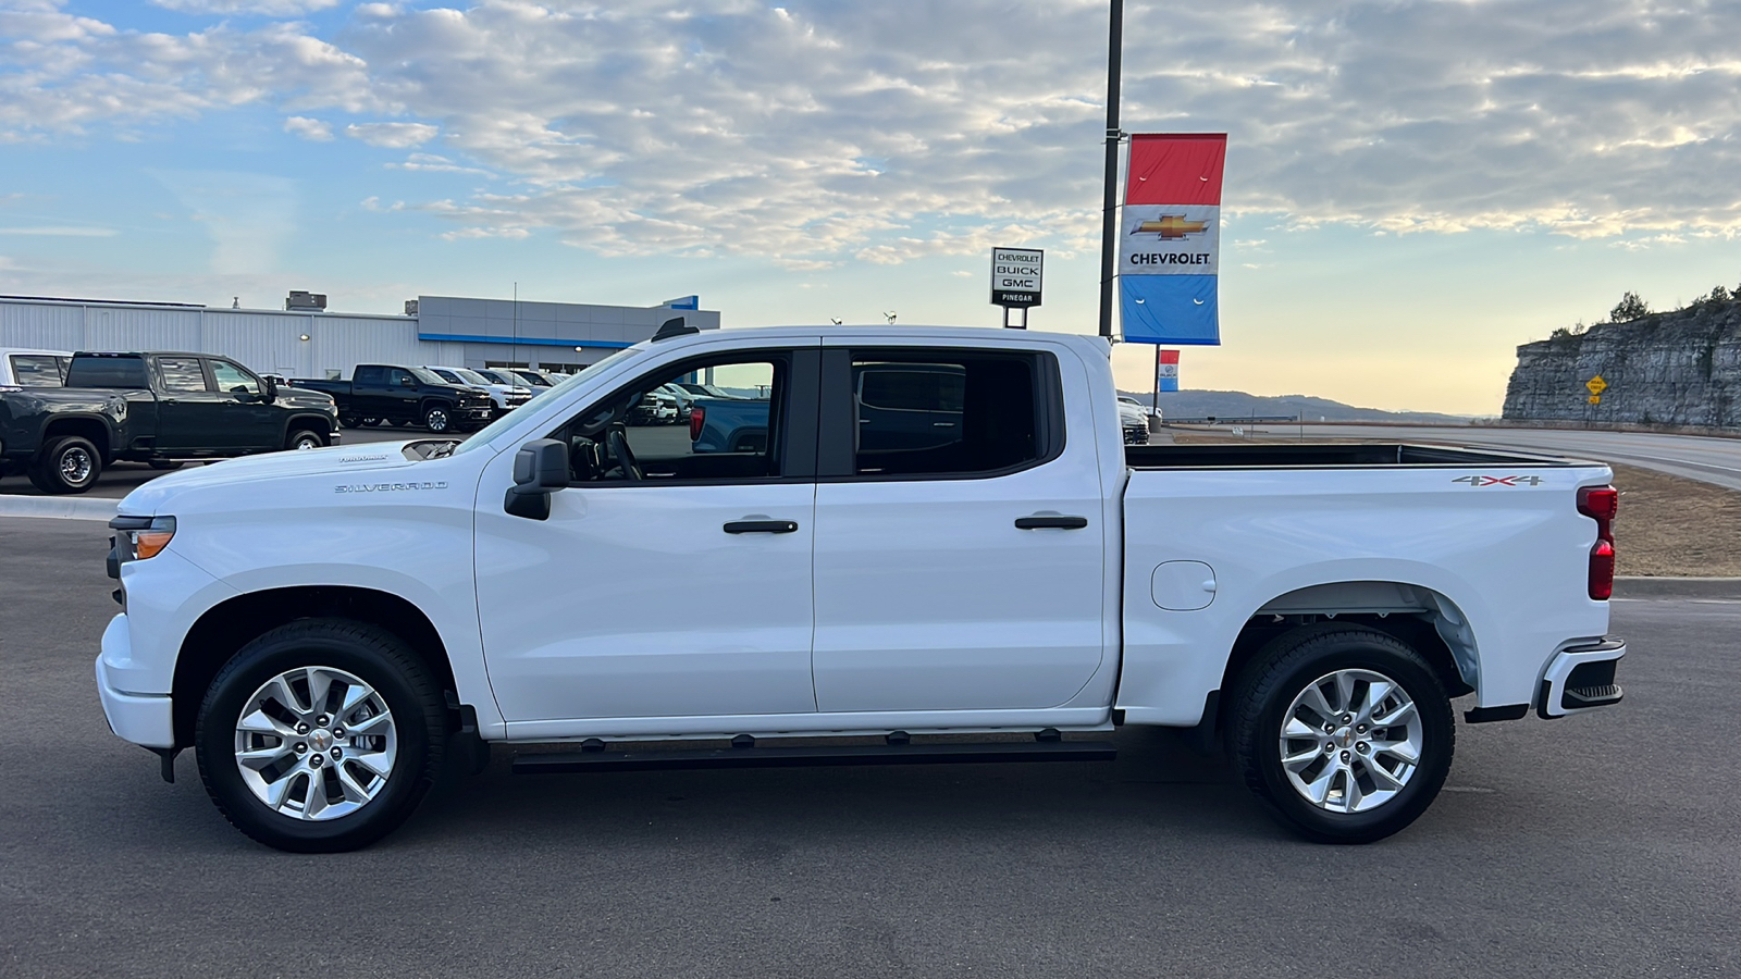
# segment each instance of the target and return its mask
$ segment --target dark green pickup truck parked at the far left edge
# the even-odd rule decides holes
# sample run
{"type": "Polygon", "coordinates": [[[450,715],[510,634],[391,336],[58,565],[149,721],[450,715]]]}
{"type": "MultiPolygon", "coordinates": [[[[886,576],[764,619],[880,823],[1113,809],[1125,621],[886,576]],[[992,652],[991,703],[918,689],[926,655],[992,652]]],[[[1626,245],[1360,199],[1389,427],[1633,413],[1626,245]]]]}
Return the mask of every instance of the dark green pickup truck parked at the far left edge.
{"type": "Polygon", "coordinates": [[[75,354],[66,387],[0,387],[0,469],[44,493],[84,493],[103,467],[183,462],[338,441],[338,408],[207,354],[75,354]]]}

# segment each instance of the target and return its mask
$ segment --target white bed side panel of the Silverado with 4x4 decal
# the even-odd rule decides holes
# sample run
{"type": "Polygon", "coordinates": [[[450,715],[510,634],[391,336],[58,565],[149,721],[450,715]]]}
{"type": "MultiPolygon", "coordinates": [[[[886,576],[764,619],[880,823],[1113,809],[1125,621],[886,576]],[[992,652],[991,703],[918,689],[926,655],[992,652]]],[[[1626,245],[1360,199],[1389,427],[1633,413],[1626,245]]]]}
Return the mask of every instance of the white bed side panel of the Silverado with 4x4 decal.
{"type": "Polygon", "coordinates": [[[1133,472],[1118,706],[1132,721],[1196,723],[1247,620],[1283,594],[1335,582],[1400,582],[1447,598],[1475,632],[1480,706],[1529,704],[1560,646],[1607,632],[1607,603],[1586,596],[1596,528],[1574,500],[1610,474],[1546,467],[1527,470],[1536,486],[1455,483],[1471,474],[1506,472],[1133,472]],[[1207,604],[1187,610],[1193,596],[1207,604]]]}

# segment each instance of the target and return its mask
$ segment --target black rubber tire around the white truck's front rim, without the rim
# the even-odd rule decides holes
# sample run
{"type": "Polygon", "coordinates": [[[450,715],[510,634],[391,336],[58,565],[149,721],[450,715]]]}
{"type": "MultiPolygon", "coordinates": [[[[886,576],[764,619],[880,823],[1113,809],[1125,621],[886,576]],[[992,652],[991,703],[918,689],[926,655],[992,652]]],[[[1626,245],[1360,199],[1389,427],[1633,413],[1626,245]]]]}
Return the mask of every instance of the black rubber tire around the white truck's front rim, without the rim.
{"type": "MultiPolygon", "coordinates": [[[[336,854],[374,843],[402,824],[442,770],[446,707],[428,671],[392,632],[346,618],[303,618],[242,646],[212,678],[193,732],[200,780],[225,819],[266,847],[336,854]],[[266,681],[298,667],[350,672],[373,686],[393,716],[397,756],[387,784],[357,810],[310,820],[273,812],[242,780],[237,723],[266,681]]],[[[313,786],[305,782],[305,796],[313,786]]]]}

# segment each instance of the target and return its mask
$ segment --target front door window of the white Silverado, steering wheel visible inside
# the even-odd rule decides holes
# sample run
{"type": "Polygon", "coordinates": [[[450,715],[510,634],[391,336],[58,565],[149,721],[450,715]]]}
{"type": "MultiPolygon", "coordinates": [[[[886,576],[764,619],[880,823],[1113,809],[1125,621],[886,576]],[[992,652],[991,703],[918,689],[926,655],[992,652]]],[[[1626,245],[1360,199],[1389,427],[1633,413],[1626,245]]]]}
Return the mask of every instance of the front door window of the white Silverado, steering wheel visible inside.
{"type": "Polygon", "coordinates": [[[550,437],[568,442],[575,483],[775,479],[787,376],[783,355],[686,361],[620,388],[550,437]]]}

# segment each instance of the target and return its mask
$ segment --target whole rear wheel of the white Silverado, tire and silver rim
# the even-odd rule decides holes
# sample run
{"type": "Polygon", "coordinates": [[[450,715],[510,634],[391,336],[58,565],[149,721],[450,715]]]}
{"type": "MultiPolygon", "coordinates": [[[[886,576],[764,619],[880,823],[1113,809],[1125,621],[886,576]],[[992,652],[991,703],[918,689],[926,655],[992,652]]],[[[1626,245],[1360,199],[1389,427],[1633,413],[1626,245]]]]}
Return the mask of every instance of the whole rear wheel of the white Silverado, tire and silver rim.
{"type": "Polygon", "coordinates": [[[1421,653],[1384,632],[1332,622],[1280,636],[1247,667],[1233,709],[1245,784],[1318,843],[1398,833],[1450,773],[1450,697],[1421,653]]]}

